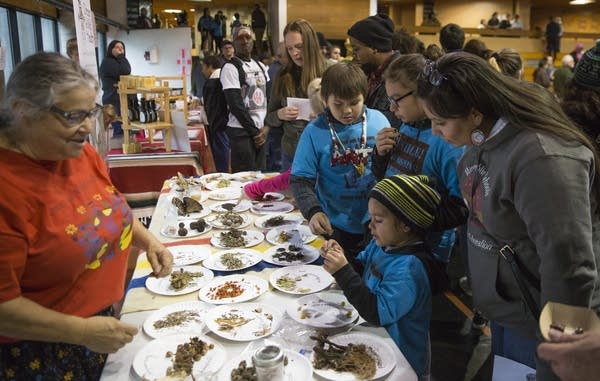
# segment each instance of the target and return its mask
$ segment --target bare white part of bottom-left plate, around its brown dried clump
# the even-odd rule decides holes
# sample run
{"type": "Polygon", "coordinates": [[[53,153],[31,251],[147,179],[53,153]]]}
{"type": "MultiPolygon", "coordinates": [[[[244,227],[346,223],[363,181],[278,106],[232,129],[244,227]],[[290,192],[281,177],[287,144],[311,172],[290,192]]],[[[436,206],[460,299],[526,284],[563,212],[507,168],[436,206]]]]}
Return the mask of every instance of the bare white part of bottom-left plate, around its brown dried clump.
{"type": "MultiPolygon", "coordinates": [[[[200,361],[194,362],[192,374],[196,380],[206,379],[206,375],[216,373],[227,360],[227,351],[216,340],[204,335],[176,334],[152,340],[146,344],[133,359],[133,370],[143,380],[162,379],[167,375],[167,369],[173,366],[173,358],[166,357],[167,352],[175,354],[177,346],[197,337],[214,347],[200,361]]],[[[186,377],[185,380],[192,380],[186,377]]]]}

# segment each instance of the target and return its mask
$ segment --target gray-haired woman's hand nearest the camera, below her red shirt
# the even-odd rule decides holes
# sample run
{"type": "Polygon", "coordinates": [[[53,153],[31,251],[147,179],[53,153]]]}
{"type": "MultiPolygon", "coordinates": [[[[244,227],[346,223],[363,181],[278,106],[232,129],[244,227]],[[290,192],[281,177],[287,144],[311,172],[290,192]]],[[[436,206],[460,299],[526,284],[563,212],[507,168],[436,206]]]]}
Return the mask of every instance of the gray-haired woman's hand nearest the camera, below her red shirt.
{"type": "Polygon", "coordinates": [[[114,317],[92,316],[84,319],[80,344],[98,353],[115,353],[138,333],[136,326],[114,317]]]}

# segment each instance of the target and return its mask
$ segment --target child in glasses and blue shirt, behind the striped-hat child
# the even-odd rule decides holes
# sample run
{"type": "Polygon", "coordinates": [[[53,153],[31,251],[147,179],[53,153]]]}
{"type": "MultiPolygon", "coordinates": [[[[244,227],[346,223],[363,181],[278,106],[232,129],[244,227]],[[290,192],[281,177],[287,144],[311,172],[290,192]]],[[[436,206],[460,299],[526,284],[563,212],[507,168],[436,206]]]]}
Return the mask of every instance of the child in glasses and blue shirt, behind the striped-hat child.
{"type": "MultiPolygon", "coordinates": [[[[431,121],[415,96],[424,68],[425,58],[421,54],[405,54],[393,60],[384,72],[390,111],[402,124],[377,133],[372,154],[373,174],[378,179],[399,174],[427,175],[435,179],[438,191],[458,199],[455,204],[460,210],[463,204],[456,165],[463,150],[431,133],[431,121]]],[[[453,229],[428,236],[430,249],[443,263],[450,260],[455,241],[453,229]]]]}

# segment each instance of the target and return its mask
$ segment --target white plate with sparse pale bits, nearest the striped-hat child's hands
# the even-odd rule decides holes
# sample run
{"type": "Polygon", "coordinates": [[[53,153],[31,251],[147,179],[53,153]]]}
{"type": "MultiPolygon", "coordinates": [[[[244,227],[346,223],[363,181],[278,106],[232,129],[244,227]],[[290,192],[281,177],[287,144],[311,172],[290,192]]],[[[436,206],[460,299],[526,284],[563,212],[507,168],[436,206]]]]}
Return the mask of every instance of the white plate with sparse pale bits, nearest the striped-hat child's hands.
{"type": "Polygon", "coordinates": [[[300,265],[277,269],[269,277],[271,285],[279,291],[288,294],[311,294],[319,292],[333,283],[333,277],[322,266],[300,265]],[[278,284],[281,278],[287,279],[288,284],[278,284]]]}

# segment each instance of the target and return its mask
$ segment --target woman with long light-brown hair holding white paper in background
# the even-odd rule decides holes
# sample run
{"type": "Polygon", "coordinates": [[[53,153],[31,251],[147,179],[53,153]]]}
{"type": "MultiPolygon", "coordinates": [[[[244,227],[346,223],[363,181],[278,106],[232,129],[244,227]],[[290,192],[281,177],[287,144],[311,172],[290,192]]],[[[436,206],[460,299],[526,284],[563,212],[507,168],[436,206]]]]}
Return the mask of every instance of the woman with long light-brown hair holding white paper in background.
{"type": "Polygon", "coordinates": [[[290,98],[304,98],[308,104],[308,84],[321,77],[327,63],[321,49],[317,33],[310,23],[303,19],[290,22],[283,30],[288,62],[277,72],[273,81],[265,124],[272,128],[282,128],[281,170],[292,165],[298,140],[308,124],[301,108],[293,105],[290,98]]]}

